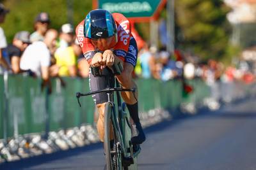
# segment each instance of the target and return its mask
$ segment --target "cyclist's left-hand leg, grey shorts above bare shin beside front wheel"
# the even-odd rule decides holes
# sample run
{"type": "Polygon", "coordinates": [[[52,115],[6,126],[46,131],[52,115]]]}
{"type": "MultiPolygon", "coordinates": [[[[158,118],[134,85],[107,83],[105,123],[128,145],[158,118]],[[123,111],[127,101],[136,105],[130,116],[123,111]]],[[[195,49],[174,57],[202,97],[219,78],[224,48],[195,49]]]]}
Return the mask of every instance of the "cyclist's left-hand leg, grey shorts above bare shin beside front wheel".
{"type": "MultiPolygon", "coordinates": [[[[108,81],[106,77],[95,77],[92,73],[89,74],[89,83],[90,83],[90,90],[102,90],[108,86],[108,81]]],[[[110,80],[111,86],[115,85],[115,78],[110,80]]],[[[100,141],[104,141],[104,109],[105,104],[108,101],[108,96],[106,93],[102,92],[99,94],[94,94],[93,101],[97,106],[97,110],[99,112],[99,118],[97,120],[97,131],[99,133],[100,141]]],[[[111,134],[112,139],[112,134],[111,134]]]]}

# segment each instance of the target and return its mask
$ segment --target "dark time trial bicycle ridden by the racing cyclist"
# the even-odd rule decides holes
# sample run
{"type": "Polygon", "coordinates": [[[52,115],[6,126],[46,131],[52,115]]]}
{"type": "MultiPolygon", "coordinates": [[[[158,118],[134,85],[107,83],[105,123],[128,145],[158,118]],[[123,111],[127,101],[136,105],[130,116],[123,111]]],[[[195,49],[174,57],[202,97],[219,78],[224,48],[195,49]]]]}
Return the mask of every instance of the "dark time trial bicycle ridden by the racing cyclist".
{"type": "Polygon", "coordinates": [[[120,92],[134,93],[136,88],[122,89],[116,78],[115,87],[111,87],[111,78],[122,73],[123,68],[120,63],[104,69],[100,69],[99,67],[91,67],[90,69],[94,76],[105,76],[108,86],[106,89],[84,94],[77,92],[76,97],[79,106],[81,106],[79,101],[79,97],[81,96],[91,96],[101,92],[106,92],[108,95],[108,102],[105,104],[104,110],[104,153],[106,168],[108,170],[137,169],[137,159],[141,148],[140,145],[132,145],[131,143],[131,130],[133,127],[130,122],[129,113],[126,111],[126,105],[122,103],[120,96],[120,92]],[[114,94],[116,94],[116,98],[114,94]],[[113,143],[111,142],[110,134],[113,134],[113,143]]]}

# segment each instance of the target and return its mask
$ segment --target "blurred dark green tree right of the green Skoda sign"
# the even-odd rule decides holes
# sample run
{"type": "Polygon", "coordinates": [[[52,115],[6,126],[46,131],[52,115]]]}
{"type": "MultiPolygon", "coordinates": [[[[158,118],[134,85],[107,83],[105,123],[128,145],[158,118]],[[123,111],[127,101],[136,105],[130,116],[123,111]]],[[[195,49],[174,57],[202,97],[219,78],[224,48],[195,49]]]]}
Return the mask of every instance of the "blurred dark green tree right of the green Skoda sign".
{"type": "Polygon", "coordinates": [[[216,0],[175,1],[177,44],[202,59],[221,59],[230,52],[231,27],[227,22],[227,6],[216,0]]]}

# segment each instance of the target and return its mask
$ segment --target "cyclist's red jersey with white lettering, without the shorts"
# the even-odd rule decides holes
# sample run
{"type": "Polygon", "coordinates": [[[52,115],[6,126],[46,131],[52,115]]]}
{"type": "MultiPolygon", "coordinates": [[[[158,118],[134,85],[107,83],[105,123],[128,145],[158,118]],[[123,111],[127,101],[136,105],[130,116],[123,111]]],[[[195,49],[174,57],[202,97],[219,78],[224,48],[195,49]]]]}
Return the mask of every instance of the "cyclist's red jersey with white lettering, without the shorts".
{"type": "MultiPolygon", "coordinates": [[[[132,34],[131,34],[131,24],[127,18],[124,17],[124,15],[120,13],[113,13],[113,18],[115,19],[116,26],[117,26],[117,34],[118,34],[118,41],[116,45],[113,47],[113,53],[117,56],[120,57],[125,62],[129,62],[126,58],[127,53],[129,52],[129,45],[130,45],[130,39],[132,39],[132,34]]],[[[80,24],[77,25],[76,27],[76,36],[77,40],[79,41],[79,45],[81,46],[83,50],[84,57],[90,64],[92,61],[92,57],[96,52],[99,52],[95,46],[93,46],[91,39],[85,38],[84,37],[84,20],[80,22],[80,24]]],[[[131,47],[130,47],[131,48],[131,47]]],[[[133,50],[134,49],[130,49],[133,50]]],[[[137,49],[138,50],[138,49],[137,49]]],[[[129,53],[132,53],[129,52],[129,53]]],[[[135,60],[132,60],[132,65],[134,65],[134,62],[136,64],[136,57],[135,60]]],[[[129,59],[131,60],[131,59],[129,59]]]]}

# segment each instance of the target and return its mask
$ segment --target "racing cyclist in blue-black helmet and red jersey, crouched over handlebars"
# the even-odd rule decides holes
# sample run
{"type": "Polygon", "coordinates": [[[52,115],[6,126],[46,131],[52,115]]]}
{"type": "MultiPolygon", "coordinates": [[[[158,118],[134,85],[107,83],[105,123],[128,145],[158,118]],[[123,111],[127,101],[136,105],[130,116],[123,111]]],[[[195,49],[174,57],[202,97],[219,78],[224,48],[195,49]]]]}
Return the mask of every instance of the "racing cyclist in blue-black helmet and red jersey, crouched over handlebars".
{"type": "MultiPolygon", "coordinates": [[[[92,10],[86,18],[76,27],[77,40],[83,50],[85,59],[92,67],[100,66],[104,69],[113,66],[114,62],[122,62],[124,71],[116,76],[123,88],[136,87],[132,81],[132,71],[136,66],[138,48],[136,41],[131,34],[129,20],[120,13],[109,13],[107,10],[92,10]]],[[[106,88],[104,77],[89,75],[90,89],[101,90],[106,88]]],[[[145,141],[145,134],[138,117],[138,89],[135,95],[132,92],[122,92],[122,98],[133,121],[131,142],[141,144],[145,141]]],[[[97,130],[100,140],[104,139],[104,106],[108,101],[106,93],[93,95],[99,110],[97,130]]]]}

